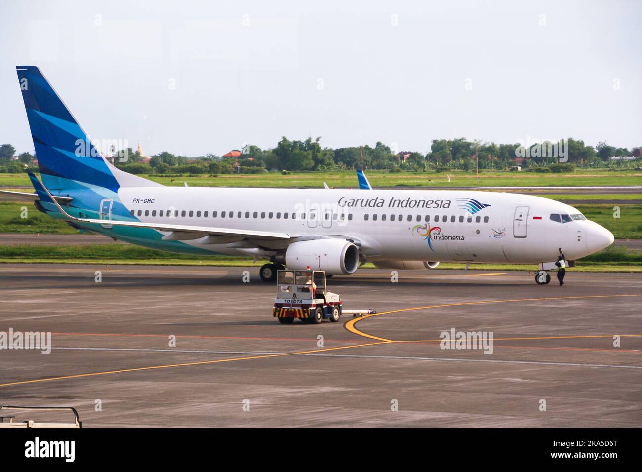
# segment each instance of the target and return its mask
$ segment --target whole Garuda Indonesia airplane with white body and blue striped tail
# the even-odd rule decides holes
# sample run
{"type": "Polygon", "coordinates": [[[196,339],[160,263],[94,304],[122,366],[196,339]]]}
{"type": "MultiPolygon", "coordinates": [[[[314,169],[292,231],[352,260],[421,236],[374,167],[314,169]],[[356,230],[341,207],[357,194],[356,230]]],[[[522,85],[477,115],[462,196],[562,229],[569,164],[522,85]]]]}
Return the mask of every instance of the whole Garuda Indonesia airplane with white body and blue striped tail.
{"type": "MultiPolygon", "coordinates": [[[[412,270],[439,261],[550,265],[562,252],[575,261],[614,241],[574,207],[532,195],[163,186],[112,166],[38,67],[16,69],[42,180],[30,174],[35,193],[3,193],[114,240],[265,259],[266,282],[283,267],[331,276],[365,262],[412,270]]],[[[548,283],[545,275],[535,281],[548,283]]]]}

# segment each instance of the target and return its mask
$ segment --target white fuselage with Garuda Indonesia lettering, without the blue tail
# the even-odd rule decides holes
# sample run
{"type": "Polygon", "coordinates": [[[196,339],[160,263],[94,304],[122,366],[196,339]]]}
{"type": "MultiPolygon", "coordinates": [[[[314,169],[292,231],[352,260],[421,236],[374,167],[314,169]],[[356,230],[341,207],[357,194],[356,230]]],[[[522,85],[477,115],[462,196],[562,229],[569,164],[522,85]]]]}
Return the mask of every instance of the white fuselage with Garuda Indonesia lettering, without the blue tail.
{"type": "MultiPolygon", "coordinates": [[[[141,222],[279,231],[302,238],[345,236],[358,241],[369,261],[540,263],[554,261],[560,249],[567,259],[578,259],[612,243],[611,232],[580,219],[577,209],[515,193],[123,187],[117,195],[134,212],[132,219],[141,222]],[[577,219],[557,222],[551,214],[577,219]]],[[[105,232],[132,239],[114,229],[105,232]]],[[[252,254],[242,243],[230,241],[182,243],[215,253],[252,254]]],[[[145,245],[141,240],[131,242],[145,245]]],[[[285,247],[282,241],[261,243],[261,250],[285,247]]],[[[180,252],[176,247],[167,249],[180,252]]]]}

